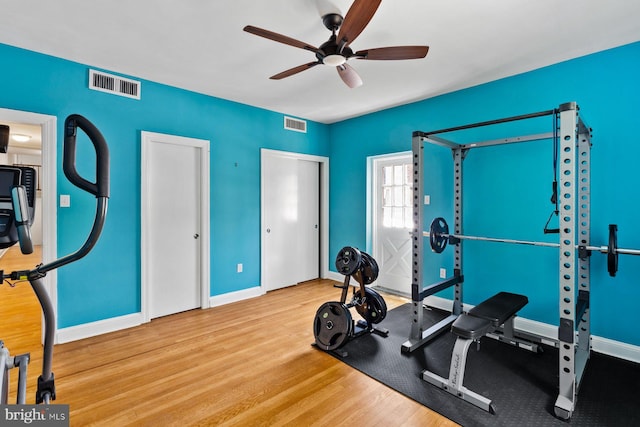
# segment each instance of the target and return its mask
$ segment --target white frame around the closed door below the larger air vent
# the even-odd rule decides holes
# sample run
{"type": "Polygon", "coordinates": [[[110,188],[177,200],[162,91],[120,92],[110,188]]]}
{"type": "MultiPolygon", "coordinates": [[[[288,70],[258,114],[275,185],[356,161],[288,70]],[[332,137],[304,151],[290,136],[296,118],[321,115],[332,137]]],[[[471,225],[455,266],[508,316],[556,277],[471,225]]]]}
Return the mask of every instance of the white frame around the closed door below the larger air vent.
{"type": "MultiPolygon", "coordinates": [[[[184,136],[168,135],[156,132],[141,131],[141,192],[140,192],[140,311],[143,322],[151,321],[150,300],[151,283],[149,283],[149,269],[153,268],[149,262],[149,235],[151,230],[144,219],[150,214],[149,206],[149,146],[150,144],[171,143],[194,147],[200,151],[200,307],[202,309],[210,307],[211,299],[211,279],[210,279],[210,244],[211,235],[209,231],[210,219],[210,142],[204,139],[188,138],[184,136]],[[157,140],[161,140],[157,141],[157,140]]],[[[179,280],[176,277],[176,280],[179,280]]]]}

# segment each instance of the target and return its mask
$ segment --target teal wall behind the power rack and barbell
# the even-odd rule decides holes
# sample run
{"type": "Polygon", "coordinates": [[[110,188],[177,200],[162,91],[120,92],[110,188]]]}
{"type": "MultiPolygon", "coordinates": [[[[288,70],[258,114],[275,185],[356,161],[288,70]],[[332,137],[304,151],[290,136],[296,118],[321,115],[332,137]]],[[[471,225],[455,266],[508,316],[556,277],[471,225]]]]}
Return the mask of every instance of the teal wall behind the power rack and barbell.
{"type": "MultiPolygon", "coordinates": [[[[330,253],[344,245],[366,247],[367,156],[410,150],[415,130],[435,131],[545,111],[568,101],[579,104],[582,117],[593,128],[592,244],[606,245],[607,225],[617,223],[619,247],[640,248],[640,189],[636,184],[640,141],[635,128],[640,113],[640,43],[634,43],[332,125],[330,253]]],[[[546,118],[509,125],[504,132],[497,129],[500,127],[466,131],[451,139],[482,141],[526,135],[540,120],[547,120],[542,132],[550,132],[551,118],[546,118]]],[[[434,158],[451,162],[450,156],[442,154],[434,158]]],[[[436,215],[453,223],[453,176],[448,167],[438,162],[425,164],[429,169],[427,192],[436,195],[426,209],[427,225],[436,215]]],[[[551,141],[472,151],[464,161],[464,232],[553,240],[554,236],[542,233],[553,209],[549,202],[552,177],[551,141]]],[[[529,297],[522,317],[558,323],[555,249],[487,242],[466,242],[463,247],[465,302],[477,304],[500,290],[519,292],[529,297]]],[[[606,271],[606,256],[594,254],[591,263],[592,333],[640,345],[640,257],[621,255],[615,278],[606,271]]],[[[435,267],[450,268],[451,256],[427,254],[425,265],[432,267],[425,274],[435,281],[435,267]]],[[[441,296],[450,297],[450,290],[441,296]]]]}

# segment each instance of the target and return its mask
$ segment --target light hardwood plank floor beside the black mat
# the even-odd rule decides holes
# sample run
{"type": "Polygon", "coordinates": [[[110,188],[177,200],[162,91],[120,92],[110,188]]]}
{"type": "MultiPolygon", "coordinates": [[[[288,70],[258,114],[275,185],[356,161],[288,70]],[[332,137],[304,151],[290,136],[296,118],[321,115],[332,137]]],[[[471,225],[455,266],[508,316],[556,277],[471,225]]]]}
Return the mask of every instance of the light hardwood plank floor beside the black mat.
{"type": "Polygon", "coordinates": [[[316,310],[339,298],[332,284],[58,345],[55,403],[72,426],[456,425],[310,345],[316,310]]]}

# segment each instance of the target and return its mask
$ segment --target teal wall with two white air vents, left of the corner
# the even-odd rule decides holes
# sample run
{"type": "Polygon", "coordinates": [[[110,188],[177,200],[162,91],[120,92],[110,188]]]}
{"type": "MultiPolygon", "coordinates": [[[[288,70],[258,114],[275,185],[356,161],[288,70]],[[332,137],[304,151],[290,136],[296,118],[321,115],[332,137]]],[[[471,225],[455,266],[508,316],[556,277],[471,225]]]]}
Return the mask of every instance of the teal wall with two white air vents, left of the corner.
{"type": "MultiPolygon", "coordinates": [[[[58,118],[58,193],[71,195],[71,207],[57,213],[58,255],[83,243],[95,206],[62,174],[64,119],[87,117],[111,152],[105,229],[93,252],[58,271],[58,327],[140,311],[142,130],[211,141],[211,295],[260,285],[260,149],[327,156],[327,125],[285,131],[282,114],[151,81],[142,81],[140,101],[122,98],[88,89],[86,65],[2,44],[0,58],[0,107],[58,118]]],[[[80,149],[80,173],[93,176],[92,165],[91,150],[80,149]]]]}

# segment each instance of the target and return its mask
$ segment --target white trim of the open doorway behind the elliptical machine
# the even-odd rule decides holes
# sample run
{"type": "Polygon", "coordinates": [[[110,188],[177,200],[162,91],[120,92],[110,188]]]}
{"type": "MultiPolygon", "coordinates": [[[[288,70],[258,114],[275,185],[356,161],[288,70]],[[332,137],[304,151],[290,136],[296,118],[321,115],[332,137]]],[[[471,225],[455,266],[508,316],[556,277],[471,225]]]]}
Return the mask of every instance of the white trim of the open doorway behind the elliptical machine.
{"type": "MultiPolygon", "coordinates": [[[[42,127],[42,262],[48,263],[57,258],[57,117],[28,111],[0,108],[3,120],[40,125],[42,127]]],[[[58,274],[50,271],[43,279],[45,288],[58,317],[58,274]]],[[[44,328],[43,328],[44,330],[44,328]]]]}

